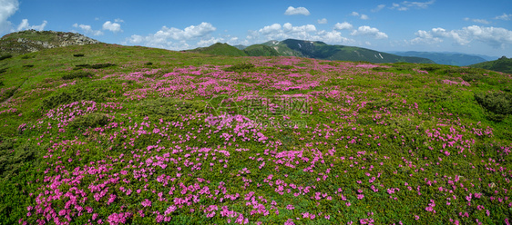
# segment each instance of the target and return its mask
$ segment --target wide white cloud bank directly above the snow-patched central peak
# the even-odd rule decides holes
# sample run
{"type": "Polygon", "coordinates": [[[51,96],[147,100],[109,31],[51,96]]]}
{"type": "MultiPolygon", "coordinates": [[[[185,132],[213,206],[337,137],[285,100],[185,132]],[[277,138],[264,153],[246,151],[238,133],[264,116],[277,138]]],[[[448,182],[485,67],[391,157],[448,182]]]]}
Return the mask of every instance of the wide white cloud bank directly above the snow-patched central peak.
{"type": "Polygon", "coordinates": [[[270,40],[301,39],[322,41],[330,44],[354,44],[353,39],[343,37],[339,31],[318,30],[313,24],[293,26],[286,24],[271,24],[257,31],[249,31],[247,40],[251,43],[262,43],[270,40]]]}

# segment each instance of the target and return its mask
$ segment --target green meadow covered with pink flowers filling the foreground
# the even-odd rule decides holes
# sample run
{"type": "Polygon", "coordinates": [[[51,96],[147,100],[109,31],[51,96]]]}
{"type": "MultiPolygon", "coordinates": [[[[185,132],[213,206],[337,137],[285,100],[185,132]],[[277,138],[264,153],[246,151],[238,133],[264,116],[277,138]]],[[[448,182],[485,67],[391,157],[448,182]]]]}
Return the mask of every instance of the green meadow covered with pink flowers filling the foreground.
{"type": "Polygon", "coordinates": [[[0,224],[512,223],[511,74],[115,44],[0,63],[0,224]]]}

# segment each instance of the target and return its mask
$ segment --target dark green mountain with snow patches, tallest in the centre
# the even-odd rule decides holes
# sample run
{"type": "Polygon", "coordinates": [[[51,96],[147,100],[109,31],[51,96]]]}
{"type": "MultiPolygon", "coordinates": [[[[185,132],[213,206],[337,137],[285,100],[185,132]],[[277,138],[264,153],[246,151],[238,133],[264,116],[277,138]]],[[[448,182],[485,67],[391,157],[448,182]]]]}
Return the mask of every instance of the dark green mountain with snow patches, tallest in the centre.
{"type": "Polygon", "coordinates": [[[278,52],[287,56],[302,56],[314,59],[341,60],[341,61],[366,61],[370,63],[418,63],[434,64],[433,61],[421,57],[407,57],[395,54],[386,54],[371,49],[331,45],[323,42],[311,42],[287,39],[282,42],[271,41],[265,43],[274,47],[278,52]]]}

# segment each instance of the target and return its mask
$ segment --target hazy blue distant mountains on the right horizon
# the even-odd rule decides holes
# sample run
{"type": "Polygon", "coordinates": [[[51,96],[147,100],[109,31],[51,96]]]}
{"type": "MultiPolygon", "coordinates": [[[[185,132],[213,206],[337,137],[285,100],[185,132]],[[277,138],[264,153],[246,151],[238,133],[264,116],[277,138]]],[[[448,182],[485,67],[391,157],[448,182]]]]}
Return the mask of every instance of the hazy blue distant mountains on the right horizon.
{"type": "Polygon", "coordinates": [[[430,59],[435,62],[435,64],[449,64],[449,65],[458,65],[458,66],[466,66],[470,64],[478,64],[482,62],[486,62],[486,59],[471,55],[471,54],[455,54],[455,53],[432,53],[432,52],[391,52],[392,54],[402,55],[402,56],[415,56],[415,57],[423,57],[430,59]]]}

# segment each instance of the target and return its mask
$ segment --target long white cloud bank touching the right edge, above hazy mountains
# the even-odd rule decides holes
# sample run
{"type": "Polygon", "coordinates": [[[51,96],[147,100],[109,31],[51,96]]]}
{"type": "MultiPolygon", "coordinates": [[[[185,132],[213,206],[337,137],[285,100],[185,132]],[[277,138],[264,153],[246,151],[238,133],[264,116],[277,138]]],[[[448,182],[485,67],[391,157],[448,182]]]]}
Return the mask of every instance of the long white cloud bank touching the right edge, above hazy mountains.
{"type": "Polygon", "coordinates": [[[512,31],[501,27],[466,26],[460,30],[447,31],[443,28],[433,28],[430,31],[419,30],[411,44],[433,44],[453,39],[455,44],[466,45],[473,41],[488,44],[494,48],[503,48],[512,44],[512,31]]]}

